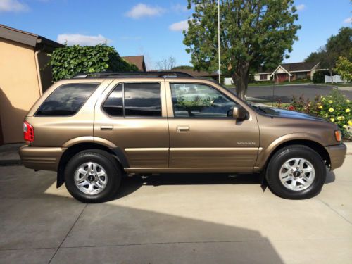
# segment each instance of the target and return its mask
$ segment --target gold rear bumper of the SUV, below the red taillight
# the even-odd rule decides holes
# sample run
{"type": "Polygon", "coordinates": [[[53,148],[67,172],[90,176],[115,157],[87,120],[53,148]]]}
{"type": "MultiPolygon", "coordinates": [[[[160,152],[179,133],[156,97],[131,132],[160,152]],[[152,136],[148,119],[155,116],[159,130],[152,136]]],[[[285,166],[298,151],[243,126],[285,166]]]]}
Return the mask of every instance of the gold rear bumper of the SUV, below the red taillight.
{"type": "Polygon", "coordinates": [[[34,170],[58,170],[58,163],[65,148],[21,146],[20,158],[25,167],[34,170]]]}

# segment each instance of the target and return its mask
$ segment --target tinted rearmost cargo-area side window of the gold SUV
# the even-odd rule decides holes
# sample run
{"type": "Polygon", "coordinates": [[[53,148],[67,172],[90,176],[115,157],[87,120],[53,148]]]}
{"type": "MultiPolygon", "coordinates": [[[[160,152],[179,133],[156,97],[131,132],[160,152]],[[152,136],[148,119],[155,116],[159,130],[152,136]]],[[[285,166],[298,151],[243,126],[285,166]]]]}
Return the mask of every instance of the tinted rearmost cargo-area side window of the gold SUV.
{"type": "Polygon", "coordinates": [[[36,116],[75,115],[99,84],[63,84],[39,107],[36,116]]]}

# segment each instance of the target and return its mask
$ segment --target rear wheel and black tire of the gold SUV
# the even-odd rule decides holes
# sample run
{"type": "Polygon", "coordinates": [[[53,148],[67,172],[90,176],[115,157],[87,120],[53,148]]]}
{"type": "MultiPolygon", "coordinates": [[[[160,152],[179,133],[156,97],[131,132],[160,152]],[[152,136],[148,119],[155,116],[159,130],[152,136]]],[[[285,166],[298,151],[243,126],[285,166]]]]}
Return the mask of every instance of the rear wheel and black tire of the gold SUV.
{"type": "Polygon", "coordinates": [[[101,203],[113,198],[120,187],[122,169],[115,158],[100,149],[81,151],[65,167],[65,186],[82,203],[101,203]]]}

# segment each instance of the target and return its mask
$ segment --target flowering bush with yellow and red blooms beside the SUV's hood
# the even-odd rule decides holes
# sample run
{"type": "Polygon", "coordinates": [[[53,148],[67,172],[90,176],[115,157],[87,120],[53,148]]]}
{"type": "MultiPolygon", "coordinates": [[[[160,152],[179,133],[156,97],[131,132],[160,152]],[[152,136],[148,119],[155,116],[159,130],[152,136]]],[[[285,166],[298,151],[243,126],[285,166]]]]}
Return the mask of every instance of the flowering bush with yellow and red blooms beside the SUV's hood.
{"type": "MultiPolygon", "coordinates": [[[[280,107],[279,104],[278,107],[280,107]]],[[[333,89],[325,97],[315,96],[313,101],[309,99],[305,100],[303,95],[298,99],[294,96],[292,103],[286,109],[303,113],[313,113],[327,118],[327,120],[339,125],[345,139],[351,139],[352,103],[337,89],[333,89]]]]}

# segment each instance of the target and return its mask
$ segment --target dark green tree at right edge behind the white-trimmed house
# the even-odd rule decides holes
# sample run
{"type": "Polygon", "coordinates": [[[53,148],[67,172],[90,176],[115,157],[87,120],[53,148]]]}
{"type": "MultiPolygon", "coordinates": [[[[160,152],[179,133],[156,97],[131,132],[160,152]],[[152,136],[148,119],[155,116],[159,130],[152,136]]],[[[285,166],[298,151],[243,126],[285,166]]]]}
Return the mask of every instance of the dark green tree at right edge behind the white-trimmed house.
{"type": "Polygon", "coordinates": [[[337,63],[339,56],[344,56],[347,60],[352,60],[352,28],[341,27],[337,35],[332,35],[327,39],[327,43],[320,47],[317,52],[312,52],[305,61],[320,62],[320,68],[329,70],[330,76],[337,63]]]}

